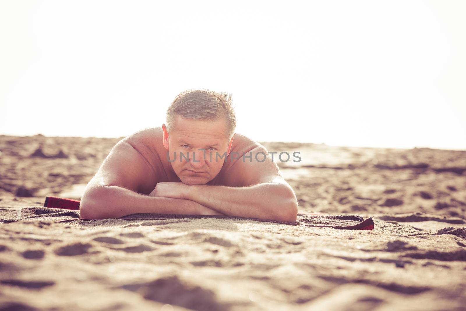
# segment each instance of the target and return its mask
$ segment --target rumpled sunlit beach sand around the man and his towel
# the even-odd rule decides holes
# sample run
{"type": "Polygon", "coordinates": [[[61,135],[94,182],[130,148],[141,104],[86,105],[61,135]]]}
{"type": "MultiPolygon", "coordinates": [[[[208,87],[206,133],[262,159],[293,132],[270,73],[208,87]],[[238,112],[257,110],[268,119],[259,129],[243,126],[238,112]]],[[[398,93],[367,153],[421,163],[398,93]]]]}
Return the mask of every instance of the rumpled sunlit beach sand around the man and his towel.
{"type": "Polygon", "coordinates": [[[302,153],[279,163],[300,214],[337,216],[296,225],[41,208],[116,142],[0,136],[0,310],[466,310],[464,151],[264,143],[302,153]]]}

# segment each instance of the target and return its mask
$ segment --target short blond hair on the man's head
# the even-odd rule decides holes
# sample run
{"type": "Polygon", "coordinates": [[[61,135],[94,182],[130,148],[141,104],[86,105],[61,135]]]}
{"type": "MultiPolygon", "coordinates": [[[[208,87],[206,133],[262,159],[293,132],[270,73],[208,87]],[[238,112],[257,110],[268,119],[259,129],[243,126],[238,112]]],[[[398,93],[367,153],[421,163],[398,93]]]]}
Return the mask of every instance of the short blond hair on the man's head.
{"type": "Polygon", "coordinates": [[[166,127],[170,132],[177,120],[183,119],[217,121],[225,118],[228,139],[236,128],[236,116],[232,105],[232,95],[215,92],[206,88],[189,89],[178,94],[167,109],[166,127]]]}

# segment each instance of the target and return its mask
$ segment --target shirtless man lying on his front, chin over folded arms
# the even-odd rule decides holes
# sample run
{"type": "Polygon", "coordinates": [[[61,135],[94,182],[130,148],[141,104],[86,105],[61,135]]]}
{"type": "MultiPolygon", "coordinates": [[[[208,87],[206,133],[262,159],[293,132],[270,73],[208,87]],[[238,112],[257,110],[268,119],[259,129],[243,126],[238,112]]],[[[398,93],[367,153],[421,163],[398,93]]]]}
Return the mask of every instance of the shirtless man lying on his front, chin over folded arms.
{"type": "Polygon", "coordinates": [[[180,93],[162,128],[113,147],[84,191],[81,218],[158,213],[296,221],[296,195],[277,164],[235,128],[231,95],[180,93]]]}

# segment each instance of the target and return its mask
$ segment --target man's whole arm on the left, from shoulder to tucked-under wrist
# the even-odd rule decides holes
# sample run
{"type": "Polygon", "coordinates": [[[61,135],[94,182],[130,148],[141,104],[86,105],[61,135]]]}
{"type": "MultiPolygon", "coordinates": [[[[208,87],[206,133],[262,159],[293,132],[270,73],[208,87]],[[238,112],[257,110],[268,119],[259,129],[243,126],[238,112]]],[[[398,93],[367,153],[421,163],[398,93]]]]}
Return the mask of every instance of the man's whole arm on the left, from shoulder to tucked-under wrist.
{"type": "Polygon", "coordinates": [[[88,183],[80,203],[84,219],[118,218],[134,213],[223,215],[186,199],[151,197],[137,193],[153,187],[150,164],[128,142],[119,142],[88,183]]]}

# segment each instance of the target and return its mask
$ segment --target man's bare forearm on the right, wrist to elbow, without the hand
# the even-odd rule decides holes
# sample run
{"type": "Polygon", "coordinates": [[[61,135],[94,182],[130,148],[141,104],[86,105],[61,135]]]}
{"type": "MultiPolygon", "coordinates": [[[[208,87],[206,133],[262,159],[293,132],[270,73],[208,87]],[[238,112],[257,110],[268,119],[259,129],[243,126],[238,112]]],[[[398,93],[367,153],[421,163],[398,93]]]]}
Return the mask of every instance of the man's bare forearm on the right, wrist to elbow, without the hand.
{"type": "Polygon", "coordinates": [[[298,204],[293,189],[281,183],[249,187],[189,185],[185,199],[225,215],[295,221],[298,204]]]}

